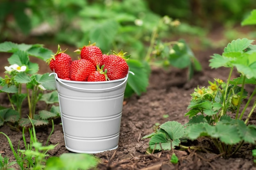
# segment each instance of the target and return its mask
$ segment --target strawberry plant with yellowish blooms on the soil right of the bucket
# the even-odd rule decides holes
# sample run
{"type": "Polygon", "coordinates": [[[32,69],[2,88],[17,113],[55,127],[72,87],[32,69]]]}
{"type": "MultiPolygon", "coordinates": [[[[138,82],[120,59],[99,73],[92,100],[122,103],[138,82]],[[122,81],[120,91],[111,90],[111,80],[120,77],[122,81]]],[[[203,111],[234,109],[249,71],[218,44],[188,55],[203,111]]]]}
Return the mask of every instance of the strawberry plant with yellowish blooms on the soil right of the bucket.
{"type": "MultiPolygon", "coordinates": [[[[206,137],[211,139],[218,152],[224,157],[230,157],[243,146],[244,143],[256,143],[256,126],[249,123],[249,119],[256,108],[256,46],[253,40],[246,38],[233,40],[225,47],[222,55],[211,56],[211,68],[230,68],[227,81],[214,79],[207,87],[197,87],[191,94],[191,102],[185,116],[189,122],[179,130],[172,123],[166,128],[166,123],[159,126],[150,137],[150,149],[165,148],[165,144],[181,146],[180,138],[190,140],[206,137]],[[231,79],[234,70],[239,77],[231,79]],[[246,85],[253,85],[254,91],[248,93],[246,85]],[[184,132],[180,132],[184,128],[184,132]],[[175,136],[170,129],[174,129],[175,136]],[[174,136],[174,137],[173,137],[174,136]],[[162,148],[159,147],[161,143],[162,148]]],[[[214,150],[210,150],[213,151],[214,150]]]]}

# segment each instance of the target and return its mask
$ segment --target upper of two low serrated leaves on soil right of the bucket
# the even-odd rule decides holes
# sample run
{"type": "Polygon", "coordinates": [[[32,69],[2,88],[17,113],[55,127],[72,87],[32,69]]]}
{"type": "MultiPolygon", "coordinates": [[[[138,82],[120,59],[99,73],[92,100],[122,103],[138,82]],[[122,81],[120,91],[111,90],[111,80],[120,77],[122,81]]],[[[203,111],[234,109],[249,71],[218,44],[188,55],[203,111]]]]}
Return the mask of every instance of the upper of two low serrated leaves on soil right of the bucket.
{"type": "Polygon", "coordinates": [[[171,140],[180,139],[184,136],[184,126],[177,121],[167,121],[159,127],[165,130],[171,140]]]}

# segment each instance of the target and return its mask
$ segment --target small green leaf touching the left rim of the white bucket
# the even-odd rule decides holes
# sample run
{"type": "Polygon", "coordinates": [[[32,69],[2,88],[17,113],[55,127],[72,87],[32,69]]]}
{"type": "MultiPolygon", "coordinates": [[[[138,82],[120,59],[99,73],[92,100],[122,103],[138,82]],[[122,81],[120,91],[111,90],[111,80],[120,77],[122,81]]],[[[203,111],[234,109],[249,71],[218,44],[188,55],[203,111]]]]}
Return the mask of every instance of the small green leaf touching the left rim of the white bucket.
{"type": "Polygon", "coordinates": [[[43,75],[36,74],[36,82],[42,84],[47,90],[56,90],[56,81],[54,76],[49,76],[49,73],[43,75]]]}

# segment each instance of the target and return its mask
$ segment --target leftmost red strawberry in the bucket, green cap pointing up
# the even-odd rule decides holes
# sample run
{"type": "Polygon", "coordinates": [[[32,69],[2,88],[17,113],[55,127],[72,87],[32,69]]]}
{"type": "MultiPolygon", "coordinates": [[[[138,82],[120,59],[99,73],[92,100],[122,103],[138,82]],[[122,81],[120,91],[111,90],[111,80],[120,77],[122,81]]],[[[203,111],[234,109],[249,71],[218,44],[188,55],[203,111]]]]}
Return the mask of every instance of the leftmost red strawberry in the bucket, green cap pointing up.
{"type": "Polygon", "coordinates": [[[60,79],[70,79],[70,64],[72,63],[72,59],[65,53],[66,50],[61,51],[61,46],[58,45],[56,54],[52,55],[52,57],[46,61],[50,69],[57,73],[60,79]]]}

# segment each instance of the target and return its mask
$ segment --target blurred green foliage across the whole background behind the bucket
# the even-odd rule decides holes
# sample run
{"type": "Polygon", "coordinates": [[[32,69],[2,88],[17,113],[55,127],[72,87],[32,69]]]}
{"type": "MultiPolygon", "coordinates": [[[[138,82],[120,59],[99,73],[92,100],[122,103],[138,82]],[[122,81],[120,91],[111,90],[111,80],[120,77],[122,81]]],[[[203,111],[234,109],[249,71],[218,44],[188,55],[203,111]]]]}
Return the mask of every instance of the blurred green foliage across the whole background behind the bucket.
{"type": "Polygon", "coordinates": [[[103,53],[123,50],[137,76],[126,91],[140,95],[150,65],[189,68],[191,78],[201,69],[191,49],[255,38],[237,31],[252,9],[254,0],[0,0],[0,42],[78,48],[90,41],[103,53]]]}

